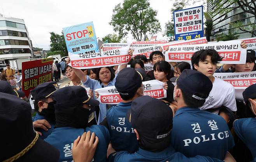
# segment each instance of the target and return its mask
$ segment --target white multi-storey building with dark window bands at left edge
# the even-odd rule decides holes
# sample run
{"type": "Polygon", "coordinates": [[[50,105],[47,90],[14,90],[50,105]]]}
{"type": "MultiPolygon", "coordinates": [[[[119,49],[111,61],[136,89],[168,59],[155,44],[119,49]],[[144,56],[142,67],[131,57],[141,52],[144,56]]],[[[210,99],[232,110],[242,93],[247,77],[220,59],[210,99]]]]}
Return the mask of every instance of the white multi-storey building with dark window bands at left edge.
{"type": "Polygon", "coordinates": [[[0,14],[0,64],[32,57],[31,47],[24,20],[0,14]]]}

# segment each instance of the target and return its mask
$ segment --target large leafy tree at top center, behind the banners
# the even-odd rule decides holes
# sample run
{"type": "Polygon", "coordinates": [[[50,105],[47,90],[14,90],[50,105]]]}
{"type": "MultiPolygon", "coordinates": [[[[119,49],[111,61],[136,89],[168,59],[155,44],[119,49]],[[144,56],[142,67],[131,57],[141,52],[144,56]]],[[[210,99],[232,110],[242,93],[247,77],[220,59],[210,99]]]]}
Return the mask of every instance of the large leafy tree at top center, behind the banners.
{"type": "Polygon", "coordinates": [[[124,0],[113,9],[110,25],[118,32],[120,38],[131,32],[137,41],[146,39],[147,33],[153,35],[161,31],[156,19],[157,11],[150,7],[149,0],[124,0]]]}

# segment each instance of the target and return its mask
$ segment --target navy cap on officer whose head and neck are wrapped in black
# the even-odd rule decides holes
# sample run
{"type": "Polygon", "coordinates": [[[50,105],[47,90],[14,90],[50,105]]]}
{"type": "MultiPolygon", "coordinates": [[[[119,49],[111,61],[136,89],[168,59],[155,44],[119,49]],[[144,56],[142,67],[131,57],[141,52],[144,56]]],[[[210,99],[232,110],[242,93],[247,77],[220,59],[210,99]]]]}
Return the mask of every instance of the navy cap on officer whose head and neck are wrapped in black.
{"type": "Polygon", "coordinates": [[[88,97],[86,89],[81,86],[68,86],[55,91],[52,96],[57,105],[76,106],[86,103],[92,106],[99,106],[100,102],[88,97]]]}

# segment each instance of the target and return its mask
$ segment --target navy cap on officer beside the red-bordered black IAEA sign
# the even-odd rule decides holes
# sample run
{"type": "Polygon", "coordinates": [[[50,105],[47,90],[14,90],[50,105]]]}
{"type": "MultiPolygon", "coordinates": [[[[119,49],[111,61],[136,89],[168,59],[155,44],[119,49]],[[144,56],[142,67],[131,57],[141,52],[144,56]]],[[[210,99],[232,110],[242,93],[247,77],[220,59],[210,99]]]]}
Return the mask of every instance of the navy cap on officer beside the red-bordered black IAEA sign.
{"type": "Polygon", "coordinates": [[[40,99],[51,96],[57,89],[59,89],[59,86],[56,82],[45,82],[37,85],[30,93],[35,101],[39,101],[40,99]]]}

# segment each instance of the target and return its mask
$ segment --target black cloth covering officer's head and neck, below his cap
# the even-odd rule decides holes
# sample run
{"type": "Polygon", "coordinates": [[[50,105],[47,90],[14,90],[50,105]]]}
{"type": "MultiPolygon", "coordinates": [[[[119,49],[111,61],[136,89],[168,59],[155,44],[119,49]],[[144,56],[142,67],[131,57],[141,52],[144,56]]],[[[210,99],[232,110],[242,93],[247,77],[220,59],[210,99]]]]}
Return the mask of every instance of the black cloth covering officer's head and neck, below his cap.
{"type": "Polygon", "coordinates": [[[86,128],[89,120],[89,110],[82,105],[74,107],[55,106],[56,125],[55,127],[86,128]]]}

